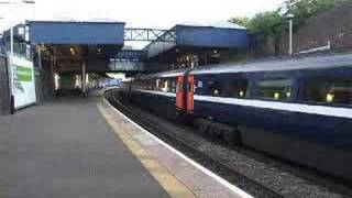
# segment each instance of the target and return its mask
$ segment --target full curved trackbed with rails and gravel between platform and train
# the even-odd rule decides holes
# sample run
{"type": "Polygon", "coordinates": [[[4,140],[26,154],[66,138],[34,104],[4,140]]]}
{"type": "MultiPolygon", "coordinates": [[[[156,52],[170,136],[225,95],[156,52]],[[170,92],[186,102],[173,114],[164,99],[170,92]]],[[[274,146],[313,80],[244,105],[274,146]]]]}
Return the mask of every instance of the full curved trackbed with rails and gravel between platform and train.
{"type": "Polygon", "coordinates": [[[344,179],[260,151],[229,147],[216,135],[199,133],[134,106],[121,91],[108,91],[106,97],[144,129],[254,197],[352,197],[352,186],[344,179]]]}

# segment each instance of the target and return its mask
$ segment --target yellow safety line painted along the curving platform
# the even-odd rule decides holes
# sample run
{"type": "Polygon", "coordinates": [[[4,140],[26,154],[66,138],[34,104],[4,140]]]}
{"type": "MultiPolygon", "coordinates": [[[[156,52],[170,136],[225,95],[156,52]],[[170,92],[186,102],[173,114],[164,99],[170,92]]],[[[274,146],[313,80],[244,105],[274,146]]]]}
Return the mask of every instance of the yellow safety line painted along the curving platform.
{"type": "Polygon", "coordinates": [[[151,175],[158,182],[165,191],[177,198],[194,198],[196,197],[187,187],[185,187],[177,178],[172,175],[157,160],[151,156],[133,138],[125,131],[123,125],[107,112],[101,103],[98,103],[98,109],[107,120],[107,123],[112,128],[116,134],[127,145],[151,175]]]}

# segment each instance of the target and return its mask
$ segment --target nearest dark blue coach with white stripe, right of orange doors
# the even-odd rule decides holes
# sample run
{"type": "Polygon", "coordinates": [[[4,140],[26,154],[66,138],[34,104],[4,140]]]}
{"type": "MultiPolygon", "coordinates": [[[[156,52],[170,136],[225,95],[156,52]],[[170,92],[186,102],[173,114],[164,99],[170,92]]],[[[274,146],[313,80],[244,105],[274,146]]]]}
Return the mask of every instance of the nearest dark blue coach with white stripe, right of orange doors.
{"type": "Polygon", "coordinates": [[[352,178],[352,55],[195,69],[194,118],[244,145],[352,178]]]}

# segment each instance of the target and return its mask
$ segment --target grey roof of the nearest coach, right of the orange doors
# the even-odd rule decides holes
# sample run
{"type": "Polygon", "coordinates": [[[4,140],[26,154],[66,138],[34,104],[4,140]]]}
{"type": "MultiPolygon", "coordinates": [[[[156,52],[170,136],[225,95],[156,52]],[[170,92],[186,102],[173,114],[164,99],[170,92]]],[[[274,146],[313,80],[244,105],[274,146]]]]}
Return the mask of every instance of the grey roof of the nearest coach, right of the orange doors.
{"type": "Polygon", "coordinates": [[[352,66],[352,54],[275,58],[262,62],[222,64],[193,69],[190,74],[251,73],[271,70],[322,69],[352,66]]]}

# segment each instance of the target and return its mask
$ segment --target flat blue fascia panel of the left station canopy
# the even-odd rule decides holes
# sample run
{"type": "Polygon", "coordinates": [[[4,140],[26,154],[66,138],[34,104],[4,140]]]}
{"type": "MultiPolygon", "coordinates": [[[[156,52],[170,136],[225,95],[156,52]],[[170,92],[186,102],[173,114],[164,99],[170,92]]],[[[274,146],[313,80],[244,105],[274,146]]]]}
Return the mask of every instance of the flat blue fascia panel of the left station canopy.
{"type": "Polygon", "coordinates": [[[32,44],[123,45],[121,22],[29,21],[32,44]]]}

